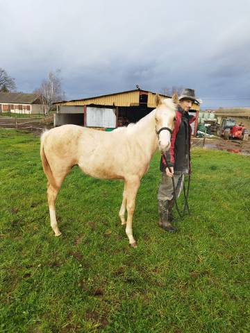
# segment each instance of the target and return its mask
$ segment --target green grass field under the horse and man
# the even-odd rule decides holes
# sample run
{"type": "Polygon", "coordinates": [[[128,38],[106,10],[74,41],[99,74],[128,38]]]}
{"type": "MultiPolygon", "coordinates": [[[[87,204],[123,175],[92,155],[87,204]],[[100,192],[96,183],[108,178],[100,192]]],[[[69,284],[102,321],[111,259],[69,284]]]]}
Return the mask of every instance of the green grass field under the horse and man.
{"type": "Polygon", "coordinates": [[[0,130],[0,332],[250,332],[250,157],[192,152],[192,216],[158,228],[159,155],[142,180],[138,248],[122,182],[66,178],[49,225],[38,137],[0,130]]]}

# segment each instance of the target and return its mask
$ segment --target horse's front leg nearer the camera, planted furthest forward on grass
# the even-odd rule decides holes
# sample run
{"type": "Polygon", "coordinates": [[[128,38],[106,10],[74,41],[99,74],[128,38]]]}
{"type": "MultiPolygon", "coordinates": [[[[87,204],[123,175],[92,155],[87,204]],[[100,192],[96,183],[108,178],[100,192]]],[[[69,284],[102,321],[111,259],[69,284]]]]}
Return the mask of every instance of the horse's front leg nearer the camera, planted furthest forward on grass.
{"type": "Polygon", "coordinates": [[[135,211],[135,198],[140,186],[140,178],[133,177],[129,178],[126,182],[126,209],[128,212],[127,223],[126,223],[126,234],[129,239],[129,244],[133,248],[137,247],[136,241],[133,238],[133,212],[135,211]]]}

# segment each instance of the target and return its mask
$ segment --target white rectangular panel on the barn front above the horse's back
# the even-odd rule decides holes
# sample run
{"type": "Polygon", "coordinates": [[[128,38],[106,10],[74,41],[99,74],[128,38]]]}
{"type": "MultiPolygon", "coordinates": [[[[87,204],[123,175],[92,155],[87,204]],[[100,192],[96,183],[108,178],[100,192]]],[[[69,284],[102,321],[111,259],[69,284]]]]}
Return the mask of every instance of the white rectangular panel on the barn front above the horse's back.
{"type": "Polygon", "coordinates": [[[87,107],[86,126],[115,128],[115,109],[87,107]]]}

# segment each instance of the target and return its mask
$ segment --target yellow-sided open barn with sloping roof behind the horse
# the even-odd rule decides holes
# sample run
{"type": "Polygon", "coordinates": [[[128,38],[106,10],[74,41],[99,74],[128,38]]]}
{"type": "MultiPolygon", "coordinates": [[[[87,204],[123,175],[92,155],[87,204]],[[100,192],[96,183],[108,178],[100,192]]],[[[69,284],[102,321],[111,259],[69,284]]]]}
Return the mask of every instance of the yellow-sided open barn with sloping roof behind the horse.
{"type": "MultiPolygon", "coordinates": [[[[155,92],[134,89],[86,99],[60,101],[56,103],[54,126],[74,123],[102,130],[126,126],[128,123],[137,122],[156,108],[155,96],[155,92]]],[[[163,94],[160,96],[170,98],[163,94]]],[[[190,113],[197,112],[199,105],[193,104],[190,113]]],[[[193,127],[193,133],[196,132],[196,128],[197,123],[193,127]]]]}

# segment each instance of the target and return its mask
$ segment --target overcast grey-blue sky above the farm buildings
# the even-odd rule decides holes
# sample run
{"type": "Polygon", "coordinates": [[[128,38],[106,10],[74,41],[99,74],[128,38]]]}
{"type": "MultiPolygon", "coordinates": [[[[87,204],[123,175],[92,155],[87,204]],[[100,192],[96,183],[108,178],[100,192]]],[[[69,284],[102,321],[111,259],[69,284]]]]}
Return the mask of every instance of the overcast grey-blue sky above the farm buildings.
{"type": "Polygon", "coordinates": [[[61,69],[67,99],[194,88],[250,106],[249,0],[0,0],[0,67],[33,92],[61,69]]]}

